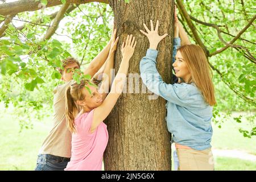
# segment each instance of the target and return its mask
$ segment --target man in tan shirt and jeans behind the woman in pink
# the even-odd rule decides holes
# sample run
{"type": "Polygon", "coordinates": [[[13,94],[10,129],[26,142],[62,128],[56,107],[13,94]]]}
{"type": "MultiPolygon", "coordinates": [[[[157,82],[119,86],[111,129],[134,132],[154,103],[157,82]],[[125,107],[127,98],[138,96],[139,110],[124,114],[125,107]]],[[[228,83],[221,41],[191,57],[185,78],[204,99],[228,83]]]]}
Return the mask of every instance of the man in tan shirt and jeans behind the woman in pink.
{"type": "MultiPolygon", "coordinates": [[[[108,58],[110,46],[111,40],[85,69],[85,75],[95,77],[108,58]]],[[[65,90],[73,84],[73,70],[80,69],[80,63],[70,57],[63,61],[63,67],[64,70],[60,70],[60,73],[65,84],[58,85],[53,90],[53,127],[40,148],[36,171],[63,171],[71,158],[72,135],[65,120],[65,90]]]]}

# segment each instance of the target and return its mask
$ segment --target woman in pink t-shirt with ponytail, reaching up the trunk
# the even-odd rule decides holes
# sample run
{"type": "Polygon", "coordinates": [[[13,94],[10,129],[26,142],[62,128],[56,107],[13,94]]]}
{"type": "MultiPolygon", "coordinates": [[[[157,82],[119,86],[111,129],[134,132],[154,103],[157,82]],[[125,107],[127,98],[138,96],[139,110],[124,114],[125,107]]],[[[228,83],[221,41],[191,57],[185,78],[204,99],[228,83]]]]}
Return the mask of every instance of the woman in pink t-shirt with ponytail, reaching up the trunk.
{"type": "Polygon", "coordinates": [[[66,91],[65,116],[68,128],[72,131],[72,155],[65,171],[102,169],[102,158],[108,143],[108,130],[103,121],[122,93],[129,60],[137,44],[133,35],[127,36],[126,42],[122,44],[121,65],[108,94],[109,89],[106,88],[110,86],[110,69],[113,68],[117,42],[118,38],[115,39],[114,35],[100,90],[92,86],[89,81],[82,80],[80,84],[69,86],[66,91]],[[85,86],[90,89],[90,93],[85,86]],[[79,108],[81,108],[80,112],[79,108]]]}

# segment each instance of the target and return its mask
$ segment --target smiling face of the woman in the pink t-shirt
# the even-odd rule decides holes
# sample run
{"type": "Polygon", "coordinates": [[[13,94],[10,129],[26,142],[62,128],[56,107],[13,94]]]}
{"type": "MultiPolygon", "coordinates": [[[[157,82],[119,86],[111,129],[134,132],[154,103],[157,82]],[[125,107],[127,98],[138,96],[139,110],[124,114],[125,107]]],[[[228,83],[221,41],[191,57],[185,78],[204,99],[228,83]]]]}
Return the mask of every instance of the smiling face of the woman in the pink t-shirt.
{"type": "Polygon", "coordinates": [[[85,95],[84,100],[82,101],[77,101],[77,104],[82,106],[84,110],[90,111],[98,106],[100,106],[103,102],[102,100],[102,94],[100,94],[97,90],[96,86],[92,85],[86,85],[89,89],[90,92],[86,88],[82,88],[82,92],[85,95]]]}

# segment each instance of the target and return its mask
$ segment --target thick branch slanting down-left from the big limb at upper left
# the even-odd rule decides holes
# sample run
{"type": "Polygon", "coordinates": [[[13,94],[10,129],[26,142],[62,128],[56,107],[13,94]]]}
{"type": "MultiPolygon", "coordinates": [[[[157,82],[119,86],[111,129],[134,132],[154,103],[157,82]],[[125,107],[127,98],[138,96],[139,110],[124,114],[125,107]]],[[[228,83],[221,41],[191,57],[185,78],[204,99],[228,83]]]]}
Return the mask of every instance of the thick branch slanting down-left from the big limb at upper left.
{"type": "Polygon", "coordinates": [[[53,20],[52,26],[48,28],[46,34],[43,37],[43,40],[47,40],[51,38],[54,32],[57,30],[59,26],[60,20],[63,19],[65,12],[67,11],[70,2],[66,2],[64,5],[61,6],[59,12],[57,13],[55,19],[53,20]]]}

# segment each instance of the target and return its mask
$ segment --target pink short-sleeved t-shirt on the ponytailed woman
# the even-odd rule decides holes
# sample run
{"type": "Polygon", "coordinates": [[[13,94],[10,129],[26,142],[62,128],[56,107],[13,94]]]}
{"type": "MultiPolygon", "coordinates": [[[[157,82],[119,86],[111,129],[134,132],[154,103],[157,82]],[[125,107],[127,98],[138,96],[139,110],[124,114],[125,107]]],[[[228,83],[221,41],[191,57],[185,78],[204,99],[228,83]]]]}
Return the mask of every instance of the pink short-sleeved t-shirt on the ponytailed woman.
{"type": "Polygon", "coordinates": [[[90,133],[94,110],[83,113],[75,119],[77,133],[72,134],[71,160],[65,171],[101,171],[109,134],[104,122],[90,133]]]}

